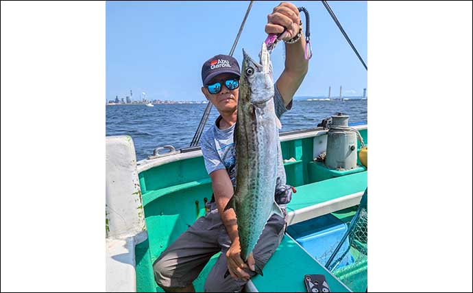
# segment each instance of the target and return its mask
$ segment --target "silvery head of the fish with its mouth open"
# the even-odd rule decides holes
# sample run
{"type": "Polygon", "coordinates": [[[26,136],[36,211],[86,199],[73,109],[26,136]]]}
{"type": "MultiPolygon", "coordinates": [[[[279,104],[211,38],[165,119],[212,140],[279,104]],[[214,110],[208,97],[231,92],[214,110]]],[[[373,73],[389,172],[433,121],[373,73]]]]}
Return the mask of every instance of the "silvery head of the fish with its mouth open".
{"type": "Polygon", "coordinates": [[[240,84],[247,93],[239,97],[242,102],[263,104],[274,97],[273,68],[265,43],[261,46],[260,62],[254,61],[243,49],[240,84]]]}

